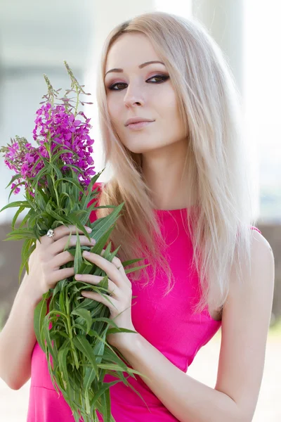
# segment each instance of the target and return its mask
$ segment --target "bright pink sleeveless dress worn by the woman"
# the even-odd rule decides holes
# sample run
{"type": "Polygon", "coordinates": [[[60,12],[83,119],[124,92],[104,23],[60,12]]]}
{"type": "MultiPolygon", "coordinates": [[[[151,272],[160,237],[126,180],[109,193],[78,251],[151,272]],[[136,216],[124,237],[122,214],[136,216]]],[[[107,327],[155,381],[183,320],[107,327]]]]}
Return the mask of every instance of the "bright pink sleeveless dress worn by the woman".
{"type": "MultiPolygon", "coordinates": [[[[100,185],[100,183],[95,186],[100,185]]],[[[155,210],[159,215],[161,230],[169,244],[168,256],[176,282],[173,290],[162,298],[166,279],[156,278],[152,286],[142,288],[132,283],[131,315],[136,331],[169,359],[178,369],[186,372],[198,350],[206,345],[221,327],[207,309],[192,314],[190,304],[198,298],[199,279],[190,274],[192,244],[183,229],[181,215],[187,210],[155,210]]],[[[91,213],[91,222],[96,214],[91,213]]],[[[257,229],[256,227],[252,227],[257,229]]],[[[260,232],[261,233],[261,232],[260,232]]],[[[129,276],[129,275],[128,275],[129,276]]],[[[125,373],[125,376],[128,374],[125,373]]],[[[178,421],[148,388],[141,377],[129,378],[142,399],[122,382],[110,388],[111,411],[116,422],[174,422],[178,421]]],[[[104,381],[116,381],[111,375],[104,381]]],[[[103,418],[100,417],[100,421],[103,418]]],[[[32,353],[32,375],[27,422],[74,422],[72,411],[63,395],[53,388],[44,352],[36,343],[32,353]]]]}

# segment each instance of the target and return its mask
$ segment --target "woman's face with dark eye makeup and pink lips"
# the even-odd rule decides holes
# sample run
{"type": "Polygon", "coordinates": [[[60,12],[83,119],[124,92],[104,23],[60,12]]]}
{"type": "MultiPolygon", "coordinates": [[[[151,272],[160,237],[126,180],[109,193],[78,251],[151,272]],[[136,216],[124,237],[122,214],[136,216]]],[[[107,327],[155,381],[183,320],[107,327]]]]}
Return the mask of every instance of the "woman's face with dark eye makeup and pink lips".
{"type": "Polygon", "coordinates": [[[107,54],[105,89],[110,119],[124,146],[133,153],[168,151],[185,141],[176,93],[166,66],[145,34],[122,34],[107,54]],[[141,67],[141,68],[140,68],[141,67]],[[122,72],[108,72],[115,68],[122,72]],[[126,126],[131,117],[152,122],[142,127],[126,126]]]}

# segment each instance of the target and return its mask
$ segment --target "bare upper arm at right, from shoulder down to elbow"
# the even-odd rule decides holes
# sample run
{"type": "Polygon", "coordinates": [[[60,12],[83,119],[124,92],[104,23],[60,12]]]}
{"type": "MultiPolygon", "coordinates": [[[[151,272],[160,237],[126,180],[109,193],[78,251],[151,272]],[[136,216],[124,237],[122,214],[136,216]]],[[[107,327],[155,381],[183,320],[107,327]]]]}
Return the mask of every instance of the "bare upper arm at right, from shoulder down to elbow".
{"type": "Polygon", "coordinates": [[[273,304],[273,250],[259,231],[251,231],[251,274],[242,265],[243,283],[230,280],[223,307],[216,390],[237,404],[241,421],[251,421],[263,376],[273,304]]]}

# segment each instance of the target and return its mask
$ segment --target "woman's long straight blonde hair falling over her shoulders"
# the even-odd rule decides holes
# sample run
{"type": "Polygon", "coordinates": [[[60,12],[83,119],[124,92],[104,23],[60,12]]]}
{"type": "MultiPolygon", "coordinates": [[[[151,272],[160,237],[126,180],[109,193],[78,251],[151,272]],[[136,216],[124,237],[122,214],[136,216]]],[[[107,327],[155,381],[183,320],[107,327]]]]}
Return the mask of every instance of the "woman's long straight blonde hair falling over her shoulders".
{"type": "MultiPolygon", "coordinates": [[[[193,245],[192,268],[200,275],[200,302],[222,309],[230,287],[230,270],[250,265],[250,226],[254,225],[250,178],[242,139],[240,95],[221,49],[196,20],[153,11],[121,23],[108,34],[101,54],[97,79],[97,101],[105,165],[114,176],[100,195],[100,205],[125,202],[110,240],[123,260],[150,257],[153,275],[142,269],[146,284],[155,271],[168,274],[165,294],[171,288],[165,243],[154,212],[150,189],[142,176],[141,154],[132,153],[120,141],[110,121],[104,84],[107,53],[122,34],[145,34],[164,62],[173,84],[181,118],[188,131],[185,172],[192,174],[191,188],[197,192],[196,212],[187,212],[187,232],[193,245]]],[[[98,210],[98,217],[110,208],[98,210]]],[[[136,263],[136,266],[140,263],[136,263]]],[[[138,279],[140,271],[132,274],[138,279]]],[[[238,280],[240,271],[237,272],[238,280]]]]}

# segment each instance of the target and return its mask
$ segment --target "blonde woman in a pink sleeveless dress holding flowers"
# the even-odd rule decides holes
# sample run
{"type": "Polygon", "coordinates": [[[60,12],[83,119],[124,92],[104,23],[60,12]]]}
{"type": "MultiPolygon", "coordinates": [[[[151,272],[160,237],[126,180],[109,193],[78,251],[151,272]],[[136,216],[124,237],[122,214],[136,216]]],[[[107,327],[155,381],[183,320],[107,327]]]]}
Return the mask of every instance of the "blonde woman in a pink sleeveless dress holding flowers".
{"type": "MultiPolygon", "coordinates": [[[[274,257],[252,225],[239,102],[226,61],[199,23],[145,13],[108,35],[97,96],[105,160],[114,174],[97,184],[100,205],[124,200],[125,207],[110,239],[122,244],[119,259],[86,259],[109,276],[112,318],[137,332],[107,340],[146,376],[130,378],[145,403],[124,384],[112,386],[112,415],[117,422],[251,421],[274,257]],[[129,277],[121,261],[133,256],[150,266],[129,277]],[[209,388],[185,372],[220,327],[218,377],[209,388]]],[[[98,217],[107,212],[98,210],[98,217]]],[[[32,378],[30,422],[73,420],[32,329],[42,293],[74,275],[74,269],[59,269],[73,259],[63,252],[70,229],[42,236],[1,333],[1,377],[14,389],[32,378]]],[[[87,244],[84,236],[81,243],[87,244]]],[[[100,278],[82,280],[95,284],[100,278]]],[[[96,293],[84,296],[108,306],[96,293]]]]}

